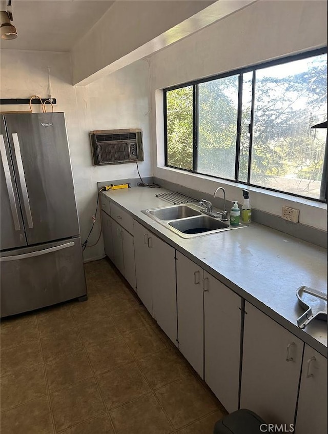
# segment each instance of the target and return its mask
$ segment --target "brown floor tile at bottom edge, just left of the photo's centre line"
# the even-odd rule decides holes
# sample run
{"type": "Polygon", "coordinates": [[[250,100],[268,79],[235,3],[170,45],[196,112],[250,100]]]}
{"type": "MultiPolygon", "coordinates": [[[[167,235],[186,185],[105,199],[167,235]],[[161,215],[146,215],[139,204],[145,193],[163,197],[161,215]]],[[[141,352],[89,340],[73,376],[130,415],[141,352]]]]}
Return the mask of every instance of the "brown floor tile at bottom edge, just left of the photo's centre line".
{"type": "Polygon", "coordinates": [[[111,410],[110,415],[117,434],[169,434],[173,431],[152,393],[111,410]]]}

